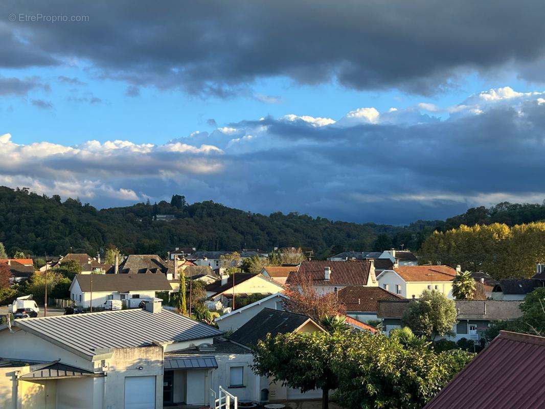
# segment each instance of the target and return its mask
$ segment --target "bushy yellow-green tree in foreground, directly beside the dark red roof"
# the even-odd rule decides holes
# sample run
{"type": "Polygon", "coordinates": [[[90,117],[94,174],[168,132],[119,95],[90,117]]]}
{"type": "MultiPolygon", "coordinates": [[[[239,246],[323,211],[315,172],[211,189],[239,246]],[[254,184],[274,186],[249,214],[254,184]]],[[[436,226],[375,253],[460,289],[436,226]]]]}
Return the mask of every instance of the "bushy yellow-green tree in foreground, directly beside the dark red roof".
{"type": "Polygon", "coordinates": [[[359,334],[338,339],[333,371],[338,403],[354,409],[420,409],[474,354],[406,347],[394,336],[359,334]]]}

